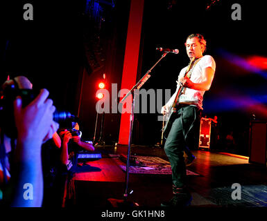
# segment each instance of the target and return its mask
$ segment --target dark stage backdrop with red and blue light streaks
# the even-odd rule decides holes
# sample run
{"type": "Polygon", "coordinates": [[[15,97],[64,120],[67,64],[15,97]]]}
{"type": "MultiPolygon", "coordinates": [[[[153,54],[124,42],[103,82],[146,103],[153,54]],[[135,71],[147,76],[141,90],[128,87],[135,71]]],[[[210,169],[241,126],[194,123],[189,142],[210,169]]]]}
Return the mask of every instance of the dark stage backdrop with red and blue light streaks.
{"type": "MultiPolygon", "coordinates": [[[[121,85],[130,0],[3,1],[1,8],[1,83],[8,75],[26,75],[34,88],[47,88],[58,109],[78,115],[83,136],[92,140],[98,81],[105,73],[108,89],[112,83],[118,84],[118,90],[121,85]],[[25,3],[33,3],[33,21],[22,17],[25,3]]],[[[174,92],[175,79],[189,62],[186,37],[204,35],[206,54],[216,61],[212,88],[204,97],[204,115],[218,116],[221,148],[232,131],[234,151],[248,155],[252,115],[267,118],[265,23],[266,1],[145,0],[137,79],[160,58],[155,48],[178,48],[180,53],[167,55],[143,87],[174,92]],[[234,3],[241,5],[241,21],[231,18],[234,3]]],[[[160,142],[158,115],[136,115],[134,144],[160,142]]],[[[106,144],[118,142],[119,120],[119,113],[105,114],[106,144]]],[[[99,128],[100,124],[97,138],[99,128]]]]}

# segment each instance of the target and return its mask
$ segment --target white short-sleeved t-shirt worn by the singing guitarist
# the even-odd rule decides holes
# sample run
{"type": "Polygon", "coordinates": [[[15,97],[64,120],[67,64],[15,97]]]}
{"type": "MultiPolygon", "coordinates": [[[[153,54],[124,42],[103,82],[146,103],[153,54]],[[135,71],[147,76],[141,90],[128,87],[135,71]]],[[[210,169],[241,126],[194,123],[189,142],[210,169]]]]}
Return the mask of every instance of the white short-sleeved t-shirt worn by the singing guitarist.
{"type": "MultiPolygon", "coordinates": [[[[194,66],[193,71],[191,73],[191,77],[190,77],[191,81],[193,83],[203,82],[204,81],[203,70],[209,67],[211,67],[215,71],[216,64],[212,56],[205,55],[198,61],[196,66],[194,66]]],[[[187,70],[187,66],[182,68],[179,75],[184,76],[186,70],[187,70]]],[[[175,93],[173,94],[169,102],[167,102],[166,106],[168,108],[171,108],[171,104],[173,104],[174,99],[175,99],[175,94],[177,92],[178,92],[178,88],[176,89],[175,93]]],[[[190,102],[198,106],[198,108],[203,109],[202,106],[203,106],[204,93],[205,93],[205,90],[193,90],[190,88],[184,88],[184,93],[180,95],[179,102],[190,102]]]]}

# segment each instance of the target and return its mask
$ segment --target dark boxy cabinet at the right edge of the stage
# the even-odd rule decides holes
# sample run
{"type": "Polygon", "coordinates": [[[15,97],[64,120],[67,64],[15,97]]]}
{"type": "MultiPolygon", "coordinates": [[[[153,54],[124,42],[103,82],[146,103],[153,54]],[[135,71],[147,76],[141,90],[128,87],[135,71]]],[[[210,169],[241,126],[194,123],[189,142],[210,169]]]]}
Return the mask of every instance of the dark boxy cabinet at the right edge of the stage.
{"type": "Polygon", "coordinates": [[[267,122],[250,122],[250,163],[266,165],[267,122]]]}

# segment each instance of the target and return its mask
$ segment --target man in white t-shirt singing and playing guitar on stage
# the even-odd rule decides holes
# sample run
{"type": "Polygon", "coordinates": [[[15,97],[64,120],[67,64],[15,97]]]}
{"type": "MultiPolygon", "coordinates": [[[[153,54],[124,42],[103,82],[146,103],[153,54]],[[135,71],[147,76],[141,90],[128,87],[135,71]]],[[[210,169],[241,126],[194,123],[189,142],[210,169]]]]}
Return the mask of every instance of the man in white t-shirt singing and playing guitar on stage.
{"type": "MultiPolygon", "coordinates": [[[[198,145],[198,133],[200,117],[203,110],[203,95],[209,90],[214,78],[216,64],[212,56],[203,53],[206,50],[206,41],[203,35],[192,34],[187,37],[185,47],[187,55],[193,65],[190,70],[182,68],[178,77],[178,88],[184,89],[178,98],[175,120],[166,137],[164,151],[169,157],[173,180],[173,198],[169,202],[163,202],[162,206],[188,206],[191,203],[191,194],[186,187],[186,168],[184,165],[184,148],[194,148],[198,145]],[[190,78],[184,74],[191,72],[190,78]]],[[[162,107],[162,114],[171,111],[175,100],[173,94],[169,102],[162,107]]]]}

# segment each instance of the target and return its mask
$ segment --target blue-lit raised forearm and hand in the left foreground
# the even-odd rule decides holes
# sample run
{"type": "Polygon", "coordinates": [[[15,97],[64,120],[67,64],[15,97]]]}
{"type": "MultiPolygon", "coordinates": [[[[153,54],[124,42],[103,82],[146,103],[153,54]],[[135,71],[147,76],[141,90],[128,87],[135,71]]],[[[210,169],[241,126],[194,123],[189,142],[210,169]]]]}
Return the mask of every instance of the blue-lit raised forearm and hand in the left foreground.
{"type": "Polygon", "coordinates": [[[49,92],[42,89],[36,99],[22,108],[21,98],[14,102],[17,146],[14,169],[10,183],[10,205],[27,207],[42,206],[43,175],[41,146],[45,138],[52,138],[58,129],[53,122],[55,106],[47,99],[49,92]],[[28,191],[28,192],[27,192],[28,191]]]}

